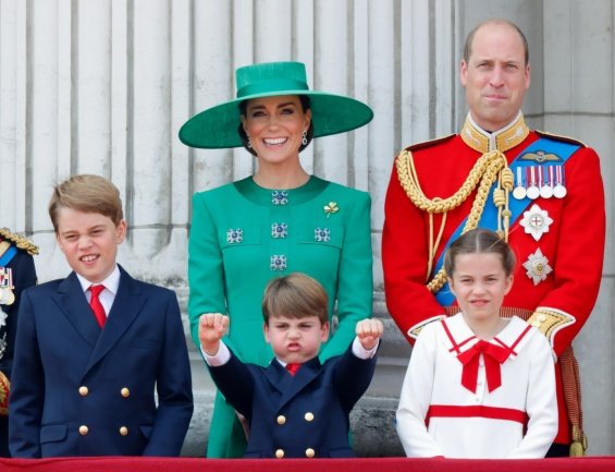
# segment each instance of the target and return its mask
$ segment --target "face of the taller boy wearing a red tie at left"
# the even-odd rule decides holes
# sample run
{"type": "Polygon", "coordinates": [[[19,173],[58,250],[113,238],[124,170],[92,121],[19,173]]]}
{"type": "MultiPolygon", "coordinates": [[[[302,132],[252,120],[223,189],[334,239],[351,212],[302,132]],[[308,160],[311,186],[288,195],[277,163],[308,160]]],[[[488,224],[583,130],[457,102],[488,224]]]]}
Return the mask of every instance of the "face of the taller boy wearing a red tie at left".
{"type": "Polygon", "coordinates": [[[62,207],[57,223],[56,239],[71,268],[93,283],[104,280],[115,268],[126,222],[115,226],[101,214],[62,207]]]}

